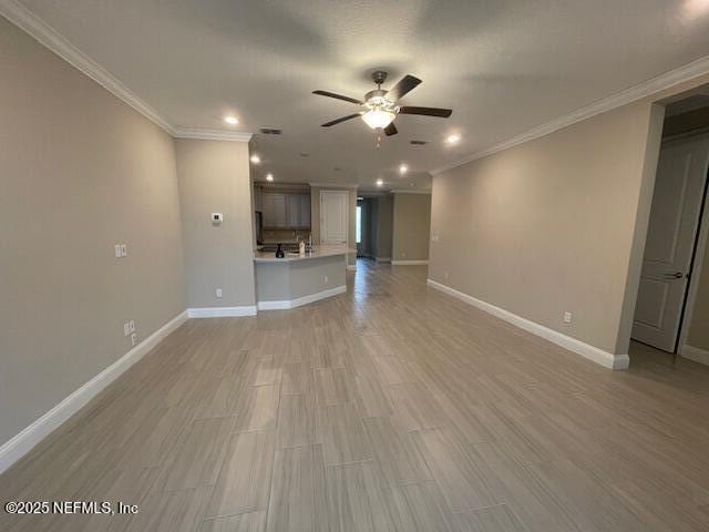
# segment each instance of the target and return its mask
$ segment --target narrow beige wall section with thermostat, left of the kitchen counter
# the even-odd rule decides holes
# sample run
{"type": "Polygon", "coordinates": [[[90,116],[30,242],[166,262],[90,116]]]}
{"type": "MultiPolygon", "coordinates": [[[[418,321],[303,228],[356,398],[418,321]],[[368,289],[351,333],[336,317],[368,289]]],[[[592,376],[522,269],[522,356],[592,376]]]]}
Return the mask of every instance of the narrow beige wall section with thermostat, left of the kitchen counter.
{"type": "Polygon", "coordinates": [[[255,304],[248,144],[175,141],[189,307],[255,304]],[[214,226],[210,213],[223,213],[214,226]],[[223,297],[216,297],[222,288],[223,297]]]}

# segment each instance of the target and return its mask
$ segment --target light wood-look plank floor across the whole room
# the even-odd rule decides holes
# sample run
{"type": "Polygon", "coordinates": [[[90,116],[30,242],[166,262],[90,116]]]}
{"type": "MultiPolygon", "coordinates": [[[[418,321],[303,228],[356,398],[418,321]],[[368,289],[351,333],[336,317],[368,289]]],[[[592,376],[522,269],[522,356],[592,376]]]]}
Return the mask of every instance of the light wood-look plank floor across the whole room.
{"type": "Polygon", "coordinates": [[[613,372],[361,263],[349,293],[191,320],[0,477],[3,531],[706,531],[709,370],[613,372]]]}

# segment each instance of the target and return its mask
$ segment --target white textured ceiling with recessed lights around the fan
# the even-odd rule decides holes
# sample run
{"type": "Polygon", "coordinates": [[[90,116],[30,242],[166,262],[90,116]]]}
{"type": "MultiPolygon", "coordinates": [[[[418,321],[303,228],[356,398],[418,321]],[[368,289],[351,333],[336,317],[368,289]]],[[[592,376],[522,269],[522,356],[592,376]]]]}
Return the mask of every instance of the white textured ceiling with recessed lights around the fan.
{"type": "Polygon", "coordinates": [[[254,136],[259,175],[364,187],[382,177],[427,188],[432,168],[709,52],[709,0],[21,3],[175,126],[228,129],[223,116],[234,113],[237,131],[282,129],[254,136]],[[453,115],[400,115],[399,135],[379,150],[360,120],[319,126],[356,108],[312,90],[361,98],[381,66],[384,88],[405,73],[423,80],[403,104],[453,115]],[[452,132],[456,146],[443,142],[452,132]]]}

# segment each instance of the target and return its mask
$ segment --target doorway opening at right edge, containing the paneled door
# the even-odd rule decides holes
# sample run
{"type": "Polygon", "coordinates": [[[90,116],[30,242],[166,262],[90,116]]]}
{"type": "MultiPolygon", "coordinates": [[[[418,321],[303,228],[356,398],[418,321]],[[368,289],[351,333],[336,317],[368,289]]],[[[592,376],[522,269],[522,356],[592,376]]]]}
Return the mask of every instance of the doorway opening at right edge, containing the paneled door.
{"type": "Polygon", "coordinates": [[[700,88],[666,106],[633,320],[636,354],[649,352],[639,342],[709,364],[708,188],[709,91],[700,88]]]}

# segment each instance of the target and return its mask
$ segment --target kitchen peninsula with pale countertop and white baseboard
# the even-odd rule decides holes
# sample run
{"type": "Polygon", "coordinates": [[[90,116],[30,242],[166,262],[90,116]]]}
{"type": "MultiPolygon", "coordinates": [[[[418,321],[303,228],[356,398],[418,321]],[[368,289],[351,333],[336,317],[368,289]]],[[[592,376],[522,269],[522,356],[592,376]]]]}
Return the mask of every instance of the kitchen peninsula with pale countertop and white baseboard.
{"type": "Polygon", "coordinates": [[[347,291],[347,248],[316,246],[300,255],[254,252],[256,304],[259,310],[295,308],[347,291]]]}

